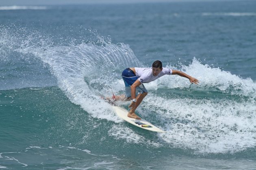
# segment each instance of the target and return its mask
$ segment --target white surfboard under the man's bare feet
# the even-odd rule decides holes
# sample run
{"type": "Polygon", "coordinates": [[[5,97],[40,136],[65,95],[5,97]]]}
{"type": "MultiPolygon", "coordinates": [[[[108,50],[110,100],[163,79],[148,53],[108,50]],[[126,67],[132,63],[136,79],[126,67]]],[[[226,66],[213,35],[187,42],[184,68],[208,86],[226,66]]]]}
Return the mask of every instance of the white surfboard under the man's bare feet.
{"type": "Polygon", "coordinates": [[[138,119],[128,117],[127,116],[128,110],[124,108],[121,108],[119,106],[113,106],[113,109],[115,110],[115,113],[117,113],[117,116],[119,116],[121,119],[124,119],[128,123],[131,123],[132,125],[135,125],[145,130],[154,131],[154,132],[166,132],[152,125],[150,122],[144,119],[138,120],[138,119]]]}

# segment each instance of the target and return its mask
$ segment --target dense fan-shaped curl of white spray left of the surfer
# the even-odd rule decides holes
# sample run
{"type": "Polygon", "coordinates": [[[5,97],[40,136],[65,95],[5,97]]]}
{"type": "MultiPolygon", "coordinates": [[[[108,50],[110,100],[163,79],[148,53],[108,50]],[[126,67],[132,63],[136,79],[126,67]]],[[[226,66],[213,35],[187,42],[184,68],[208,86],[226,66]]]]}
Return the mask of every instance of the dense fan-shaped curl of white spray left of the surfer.
{"type": "Polygon", "coordinates": [[[42,50],[27,44],[29,43],[17,50],[22,53],[32,53],[49,64],[59,87],[71,102],[80,105],[93,117],[119,121],[110,105],[100,98],[99,91],[109,90],[109,82],[116,80],[115,72],[111,72],[111,68],[139,65],[139,60],[128,45],[104,43],[98,46],[89,43],[68,47],[47,47],[47,50],[42,50]],[[96,86],[103,86],[92,87],[93,83],[96,83],[96,86]]]}

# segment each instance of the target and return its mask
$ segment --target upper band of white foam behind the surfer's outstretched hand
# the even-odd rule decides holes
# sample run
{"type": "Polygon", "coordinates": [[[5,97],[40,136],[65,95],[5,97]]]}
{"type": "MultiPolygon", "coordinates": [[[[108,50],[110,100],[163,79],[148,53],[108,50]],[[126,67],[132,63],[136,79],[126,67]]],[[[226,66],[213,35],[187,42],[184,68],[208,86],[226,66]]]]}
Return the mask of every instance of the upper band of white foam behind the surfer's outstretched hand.
{"type": "Polygon", "coordinates": [[[202,64],[197,59],[189,66],[182,66],[181,70],[200,81],[198,85],[191,84],[188,79],[171,75],[158,79],[158,87],[196,89],[200,91],[220,91],[231,95],[256,97],[256,83],[250,79],[243,79],[220,68],[212,68],[208,64],[202,64]]]}

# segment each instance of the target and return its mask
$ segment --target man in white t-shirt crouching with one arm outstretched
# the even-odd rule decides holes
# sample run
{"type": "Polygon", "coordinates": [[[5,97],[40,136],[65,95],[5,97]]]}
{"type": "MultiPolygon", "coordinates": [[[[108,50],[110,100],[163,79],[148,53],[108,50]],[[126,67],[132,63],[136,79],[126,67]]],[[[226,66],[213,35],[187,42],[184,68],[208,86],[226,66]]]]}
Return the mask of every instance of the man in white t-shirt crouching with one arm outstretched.
{"type": "Polygon", "coordinates": [[[185,74],[184,72],[163,68],[162,62],[159,60],[156,60],[152,64],[151,68],[126,68],[122,72],[122,78],[125,84],[126,98],[131,100],[131,104],[129,106],[130,111],[127,115],[128,117],[141,119],[135,114],[135,110],[139,104],[141,104],[143,98],[145,98],[145,96],[148,94],[148,91],[143,83],[149,83],[166,74],[176,74],[181,77],[186,77],[191,83],[199,83],[197,79],[185,74]]]}

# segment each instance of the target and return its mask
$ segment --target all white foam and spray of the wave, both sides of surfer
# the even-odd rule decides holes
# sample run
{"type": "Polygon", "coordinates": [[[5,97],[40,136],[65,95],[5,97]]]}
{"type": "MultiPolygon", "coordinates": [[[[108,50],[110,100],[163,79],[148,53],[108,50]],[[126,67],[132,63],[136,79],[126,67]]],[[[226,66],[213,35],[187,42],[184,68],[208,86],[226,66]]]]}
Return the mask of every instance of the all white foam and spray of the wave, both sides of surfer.
{"type": "Polygon", "coordinates": [[[111,106],[100,98],[108,91],[111,95],[111,89],[114,92],[124,90],[121,73],[113,68],[123,70],[129,66],[142,66],[128,45],[103,42],[104,45],[88,43],[38,47],[32,42],[33,39],[28,38],[28,42],[20,44],[15,50],[33,54],[48,64],[69,100],[80,105],[91,116],[119,122],[108,131],[116,139],[153,147],[161,146],[158,142],[163,141],[170,147],[189,148],[200,153],[236,152],[256,145],[253,137],[256,132],[256,83],[252,79],[243,79],[220,68],[212,68],[194,58],[189,66],[182,66],[181,70],[197,78],[199,85],[193,85],[188,79],[176,75],[164,76],[146,84],[152,91],[178,88],[241,96],[240,101],[235,101],[226,98],[164,98],[149,93],[138,111],[151,123],[157,121],[158,126],[167,133],[159,134],[157,140],[148,140],[120,123],[111,106]],[[243,97],[250,100],[243,100],[243,97]],[[157,120],[150,119],[151,114],[156,115],[157,120]]]}

